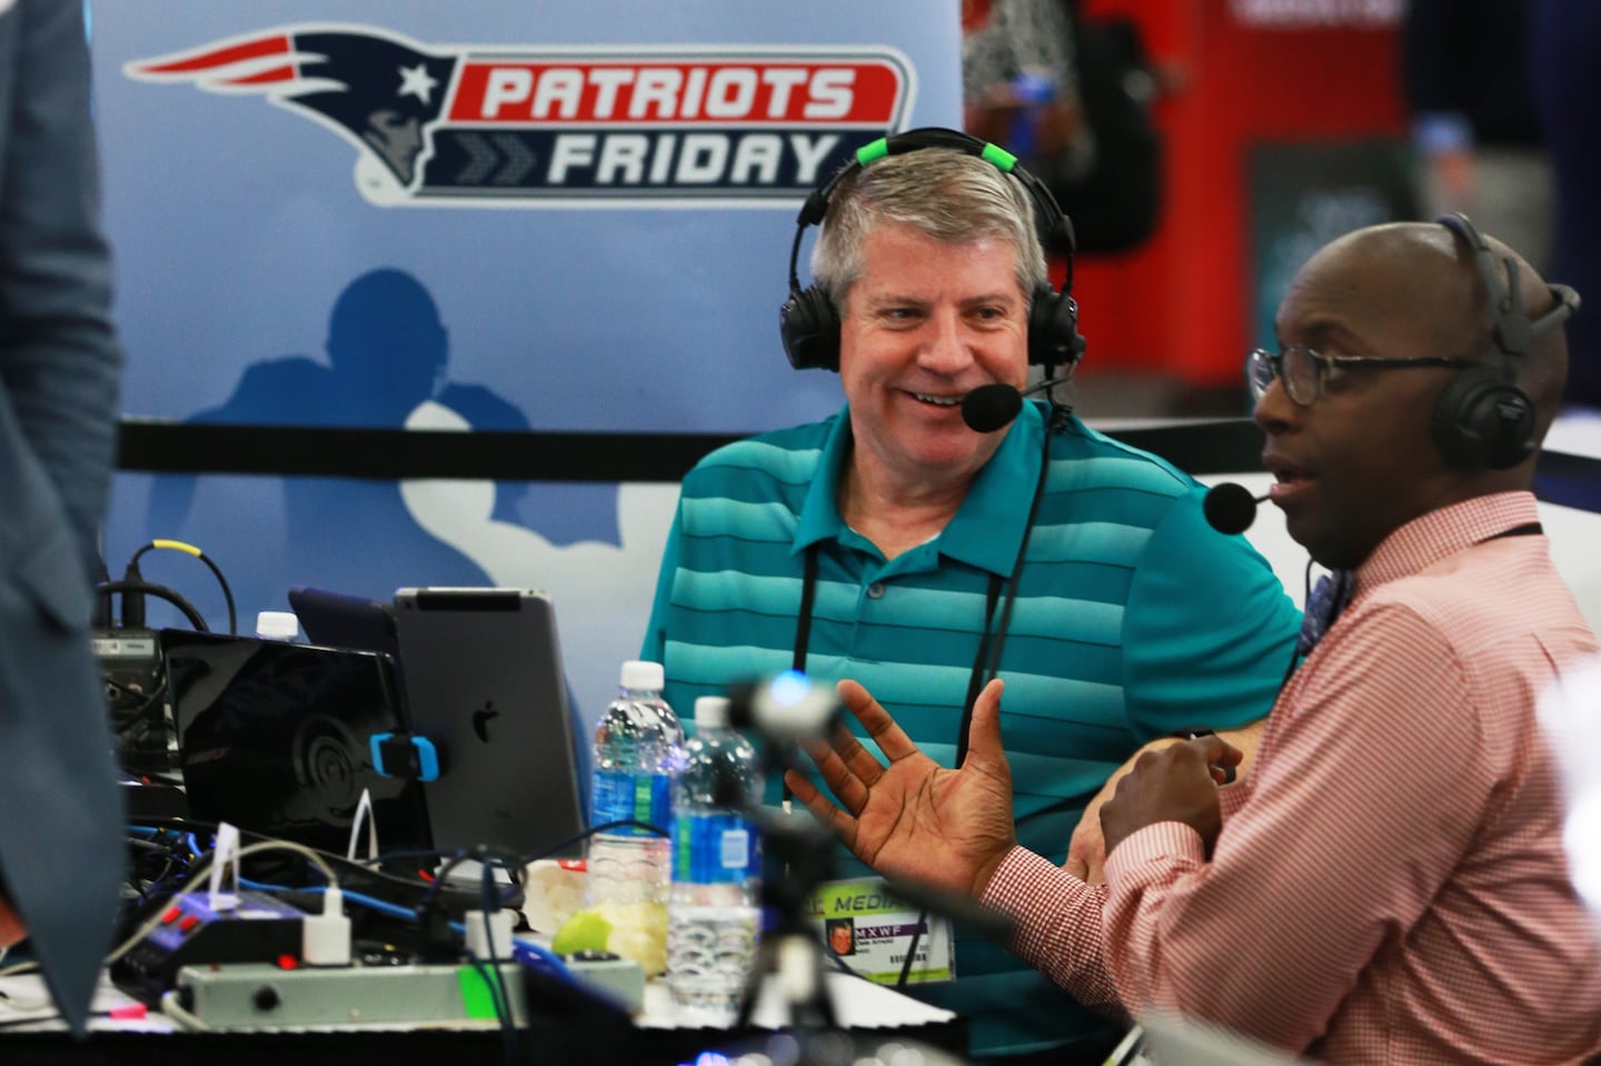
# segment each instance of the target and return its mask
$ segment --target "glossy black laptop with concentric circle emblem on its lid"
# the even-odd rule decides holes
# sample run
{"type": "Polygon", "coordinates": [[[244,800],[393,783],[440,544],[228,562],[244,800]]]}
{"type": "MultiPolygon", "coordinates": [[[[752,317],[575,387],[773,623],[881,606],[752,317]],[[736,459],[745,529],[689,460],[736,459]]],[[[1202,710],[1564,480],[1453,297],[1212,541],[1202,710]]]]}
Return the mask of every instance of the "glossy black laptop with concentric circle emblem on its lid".
{"type": "Polygon", "coordinates": [[[429,847],[421,784],[371,765],[368,738],[403,728],[387,656],[184,629],[158,640],[192,818],[343,855],[367,789],[381,852],[429,847]]]}

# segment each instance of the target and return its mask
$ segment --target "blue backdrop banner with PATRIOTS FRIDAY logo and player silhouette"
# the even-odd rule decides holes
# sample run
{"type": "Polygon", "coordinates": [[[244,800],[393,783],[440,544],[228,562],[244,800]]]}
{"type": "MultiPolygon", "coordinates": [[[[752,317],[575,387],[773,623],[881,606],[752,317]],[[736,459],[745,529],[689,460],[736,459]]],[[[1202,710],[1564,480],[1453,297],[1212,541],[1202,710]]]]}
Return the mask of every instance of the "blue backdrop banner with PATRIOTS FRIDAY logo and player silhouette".
{"type": "MultiPolygon", "coordinates": [[[[789,370],[778,344],[794,213],[861,144],[961,120],[954,0],[90,8],[134,418],[820,418],[837,379],[789,370]]],[[[106,557],[197,544],[245,618],[293,584],[546,589],[592,717],[637,653],[676,491],[120,474],[106,557]]],[[[223,615],[187,557],[142,567],[223,615]]]]}

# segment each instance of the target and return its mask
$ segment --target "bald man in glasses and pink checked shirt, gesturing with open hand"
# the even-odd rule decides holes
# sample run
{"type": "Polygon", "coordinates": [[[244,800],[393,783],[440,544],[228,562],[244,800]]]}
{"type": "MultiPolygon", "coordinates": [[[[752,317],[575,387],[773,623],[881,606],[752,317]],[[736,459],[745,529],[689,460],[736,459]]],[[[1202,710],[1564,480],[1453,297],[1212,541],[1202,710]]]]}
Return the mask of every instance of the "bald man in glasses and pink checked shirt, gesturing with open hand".
{"type": "Polygon", "coordinates": [[[1596,650],[1529,491],[1572,290],[1460,216],[1321,250],[1247,357],[1290,535],[1343,613],[1279,693],[1252,775],[1215,736],[1148,752],[1101,810],[1106,884],[1015,844],[999,727],[924,757],[860,685],[887,759],[812,751],[796,795],[879,872],[1017,917],[1084,1002],[1202,1018],[1329,1063],[1579,1063],[1601,943],[1569,879],[1534,703],[1596,650]]]}

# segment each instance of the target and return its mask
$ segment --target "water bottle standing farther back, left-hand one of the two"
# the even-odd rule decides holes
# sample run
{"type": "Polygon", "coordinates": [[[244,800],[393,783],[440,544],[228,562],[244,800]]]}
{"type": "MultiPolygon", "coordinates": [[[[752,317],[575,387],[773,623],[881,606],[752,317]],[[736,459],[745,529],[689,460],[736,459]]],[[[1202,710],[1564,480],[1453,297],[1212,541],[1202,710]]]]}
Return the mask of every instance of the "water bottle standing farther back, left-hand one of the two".
{"type": "MultiPolygon", "coordinates": [[[[621,693],[596,727],[594,818],[671,831],[672,779],[684,768],[684,727],[661,698],[660,663],[623,663],[621,693]]],[[[586,903],[666,903],[672,845],[647,829],[618,826],[589,840],[586,903]]]]}

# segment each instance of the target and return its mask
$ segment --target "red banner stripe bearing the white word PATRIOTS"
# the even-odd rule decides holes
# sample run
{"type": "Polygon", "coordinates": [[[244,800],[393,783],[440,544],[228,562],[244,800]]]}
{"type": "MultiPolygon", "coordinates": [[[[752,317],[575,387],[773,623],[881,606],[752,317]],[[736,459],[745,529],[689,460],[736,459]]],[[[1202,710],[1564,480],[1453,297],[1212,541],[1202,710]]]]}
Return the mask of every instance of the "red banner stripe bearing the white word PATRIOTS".
{"type": "Polygon", "coordinates": [[[884,61],[559,62],[474,59],[451,122],[527,125],[730,122],[887,126],[903,93],[884,61]]]}

